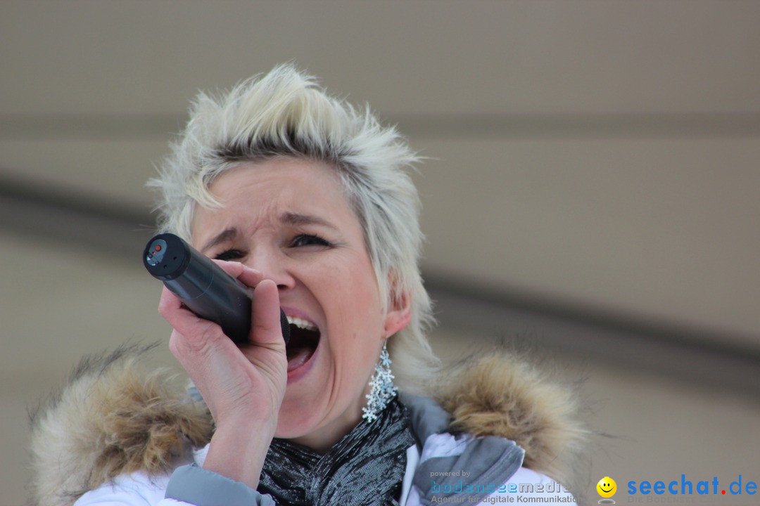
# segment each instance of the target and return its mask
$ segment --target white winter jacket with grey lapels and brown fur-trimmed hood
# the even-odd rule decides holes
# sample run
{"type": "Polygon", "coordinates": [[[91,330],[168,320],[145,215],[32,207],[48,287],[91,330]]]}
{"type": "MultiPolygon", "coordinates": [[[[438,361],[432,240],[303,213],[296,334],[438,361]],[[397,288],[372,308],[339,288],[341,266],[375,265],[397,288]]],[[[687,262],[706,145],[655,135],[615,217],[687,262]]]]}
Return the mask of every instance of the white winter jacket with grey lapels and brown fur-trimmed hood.
{"type": "MultiPolygon", "coordinates": [[[[123,349],[84,363],[33,416],[35,504],[274,504],[268,495],[202,469],[211,417],[203,404],[169,388],[164,372],[141,370],[141,354],[144,350],[123,349]],[[167,488],[174,498],[165,497],[167,488]]],[[[572,418],[568,394],[540,381],[524,363],[505,355],[486,357],[448,371],[437,403],[413,396],[401,401],[415,407],[413,432],[423,442],[422,448],[407,449],[402,506],[473,504],[473,492],[481,492],[478,504],[527,498],[575,504],[559,483],[571,478],[584,429],[572,418]],[[420,405],[424,409],[416,408],[420,405]],[[449,476],[428,473],[426,463],[437,457],[452,463],[449,476]],[[482,473],[484,458],[493,462],[487,472],[468,473],[470,467],[482,473]],[[509,470],[502,467],[507,462],[509,470]],[[494,482],[499,473],[508,476],[494,482]]]]}

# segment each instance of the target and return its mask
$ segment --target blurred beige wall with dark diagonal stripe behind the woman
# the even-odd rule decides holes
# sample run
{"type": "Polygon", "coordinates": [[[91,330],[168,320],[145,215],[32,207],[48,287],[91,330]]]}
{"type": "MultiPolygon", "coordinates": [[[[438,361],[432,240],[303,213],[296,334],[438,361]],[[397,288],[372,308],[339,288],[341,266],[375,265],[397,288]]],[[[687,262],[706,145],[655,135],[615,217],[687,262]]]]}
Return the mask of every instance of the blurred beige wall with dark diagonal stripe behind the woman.
{"type": "Polygon", "coordinates": [[[0,3],[0,504],[27,499],[40,396],[166,341],[143,184],[188,100],[282,61],[429,157],[440,353],[517,339],[585,379],[610,436],[591,503],[603,476],[760,482],[758,22],[741,0],[0,3]]]}

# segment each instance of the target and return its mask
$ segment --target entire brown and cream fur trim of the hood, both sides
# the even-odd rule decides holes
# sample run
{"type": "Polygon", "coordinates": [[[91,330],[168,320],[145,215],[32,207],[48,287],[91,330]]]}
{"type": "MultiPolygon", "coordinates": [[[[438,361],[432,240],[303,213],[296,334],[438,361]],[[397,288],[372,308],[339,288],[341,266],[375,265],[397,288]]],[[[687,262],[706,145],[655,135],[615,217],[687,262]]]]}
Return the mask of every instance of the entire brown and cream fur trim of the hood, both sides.
{"type": "MultiPolygon", "coordinates": [[[[73,504],[122,473],[162,473],[211,440],[211,416],[166,369],[146,371],[150,347],[83,360],[68,385],[32,415],[34,504],[73,504]]],[[[525,450],[524,466],[572,485],[587,432],[572,394],[527,363],[492,354],[447,367],[433,398],[451,432],[498,435],[525,450]]]]}

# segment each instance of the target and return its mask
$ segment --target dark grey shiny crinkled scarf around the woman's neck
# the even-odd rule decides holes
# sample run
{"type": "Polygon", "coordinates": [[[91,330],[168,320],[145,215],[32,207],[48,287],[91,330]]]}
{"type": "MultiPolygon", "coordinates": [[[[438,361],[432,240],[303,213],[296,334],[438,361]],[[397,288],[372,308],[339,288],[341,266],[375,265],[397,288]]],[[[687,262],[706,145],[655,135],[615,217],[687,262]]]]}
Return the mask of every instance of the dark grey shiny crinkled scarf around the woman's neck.
{"type": "Polygon", "coordinates": [[[394,398],[377,420],[362,420],[326,454],[275,438],[258,491],[283,506],[398,504],[414,442],[407,411],[394,398]]]}

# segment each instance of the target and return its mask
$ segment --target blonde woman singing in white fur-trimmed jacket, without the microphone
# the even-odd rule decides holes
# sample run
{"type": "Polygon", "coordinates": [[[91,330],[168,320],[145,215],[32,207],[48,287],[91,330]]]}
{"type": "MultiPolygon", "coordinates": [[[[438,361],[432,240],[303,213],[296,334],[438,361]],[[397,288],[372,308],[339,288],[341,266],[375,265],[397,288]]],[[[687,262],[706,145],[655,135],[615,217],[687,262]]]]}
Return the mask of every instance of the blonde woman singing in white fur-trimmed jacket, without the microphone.
{"type": "Polygon", "coordinates": [[[36,416],[36,501],[559,498],[583,432],[565,394],[502,355],[442,369],[426,339],[416,162],[394,128],[289,65],[198,96],[152,181],[160,228],[255,288],[249,343],[165,288],[194,387],[172,391],[134,350],[90,362],[36,416]]]}

